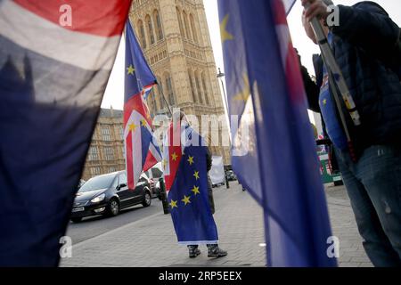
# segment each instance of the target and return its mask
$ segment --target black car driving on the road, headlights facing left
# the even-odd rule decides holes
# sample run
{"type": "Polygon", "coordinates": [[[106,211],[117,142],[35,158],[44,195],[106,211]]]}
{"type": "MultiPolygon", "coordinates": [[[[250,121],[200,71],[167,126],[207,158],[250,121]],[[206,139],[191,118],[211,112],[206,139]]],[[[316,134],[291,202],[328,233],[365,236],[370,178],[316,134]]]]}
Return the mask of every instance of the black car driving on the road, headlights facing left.
{"type": "Polygon", "coordinates": [[[84,216],[117,216],[123,208],[137,204],[151,206],[151,188],[146,175],[141,175],[135,191],[127,187],[125,171],[89,179],[77,192],[70,219],[78,223],[84,216]]]}

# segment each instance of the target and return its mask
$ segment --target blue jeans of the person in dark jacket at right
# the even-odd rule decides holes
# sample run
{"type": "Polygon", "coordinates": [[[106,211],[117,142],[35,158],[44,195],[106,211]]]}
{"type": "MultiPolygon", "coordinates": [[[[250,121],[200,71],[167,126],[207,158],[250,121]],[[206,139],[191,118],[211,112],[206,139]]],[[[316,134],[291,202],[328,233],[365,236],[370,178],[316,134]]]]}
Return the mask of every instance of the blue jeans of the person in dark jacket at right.
{"type": "Polygon", "coordinates": [[[356,163],[336,156],[366,254],[375,266],[401,266],[401,146],[371,146],[356,163]]]}

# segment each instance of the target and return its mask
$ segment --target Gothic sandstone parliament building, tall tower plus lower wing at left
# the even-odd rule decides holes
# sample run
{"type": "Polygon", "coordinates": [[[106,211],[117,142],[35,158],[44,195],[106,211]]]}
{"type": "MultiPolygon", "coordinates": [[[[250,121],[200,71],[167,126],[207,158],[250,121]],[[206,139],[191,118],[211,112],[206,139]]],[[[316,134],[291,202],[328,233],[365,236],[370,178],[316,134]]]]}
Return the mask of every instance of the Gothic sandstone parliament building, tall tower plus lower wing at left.
{"type": "MultiPolygon", "coordinates": [[[[169,105],[171,110],[180,108],[195,115],[199,122],[201,115],[223,118],[203,0],[134,0],[129,20],[158,81],[147,99],[151,116],[167,115],[169,105]]],[[[229,165],[230,148],[221,146],[221,134],[228,128],[225,120],[220,123],[209,128],[220,134],[220,143],[211,142],[210,137],[207,141],[212,154],[222,156],[229,165]]],[[[101,111],[83,179],[125,168],[122,125],[120,110],[101,111]]]]}

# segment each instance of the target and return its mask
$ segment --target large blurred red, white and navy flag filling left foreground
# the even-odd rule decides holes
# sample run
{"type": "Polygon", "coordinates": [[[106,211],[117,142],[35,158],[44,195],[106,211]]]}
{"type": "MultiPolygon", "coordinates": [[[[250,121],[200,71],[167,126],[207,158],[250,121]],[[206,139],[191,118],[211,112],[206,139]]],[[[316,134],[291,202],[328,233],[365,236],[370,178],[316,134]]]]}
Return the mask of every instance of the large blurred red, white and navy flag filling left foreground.
{"type": "Polygon", "coordinates": [[[130,4],[0,0],[0,267],[58,265],[130,4]]]}

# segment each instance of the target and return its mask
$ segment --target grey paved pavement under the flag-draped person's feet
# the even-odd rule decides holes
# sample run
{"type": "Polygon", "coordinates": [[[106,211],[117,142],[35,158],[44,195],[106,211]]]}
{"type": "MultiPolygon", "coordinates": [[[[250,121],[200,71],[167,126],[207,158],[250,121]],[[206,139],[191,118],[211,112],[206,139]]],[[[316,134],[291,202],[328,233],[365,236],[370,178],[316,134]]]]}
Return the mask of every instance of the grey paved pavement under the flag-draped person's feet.
{"type": "MultiPolygon", "coordinates": [[[[219,245],[228,251],[228,256],[208,258],[207,248],[201,246],[201,256],[190,259],[187,248],[176,242],[171,217],[163,215],[161,203],[153,199],[153,206],[159,210],[151,210],[147,216],[142,214],[123,225],[119,222],[111,230],[109,225],[87,239],[73,238],[72,257],[63,258],[61,267],[265,266],[262,208],[247,191],[241,190],[241,185],[232,182],[230,186],[214,191],[219,245]]],[[[340,239],[340,267],[371,267],[344,187],[327,186],[326,196],[332,231],[340,239]]],[[[135,216],[141,210],[135,210],[135,216]]],[[[86,231],[85,224],[89,223],[92,222],[75,231],[86,231]]]]}

